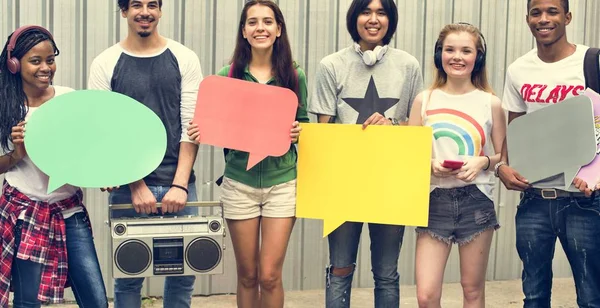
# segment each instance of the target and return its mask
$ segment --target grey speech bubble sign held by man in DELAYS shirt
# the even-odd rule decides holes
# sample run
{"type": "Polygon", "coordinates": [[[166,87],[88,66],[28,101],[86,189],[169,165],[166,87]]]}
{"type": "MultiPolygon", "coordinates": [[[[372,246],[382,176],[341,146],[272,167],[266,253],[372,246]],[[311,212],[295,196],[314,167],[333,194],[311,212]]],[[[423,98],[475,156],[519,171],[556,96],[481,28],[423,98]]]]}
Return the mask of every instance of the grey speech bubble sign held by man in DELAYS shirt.
{"type": "Polygon", "coordinates": [[[565,175],[565,189],[596,155],[592,101],[587,96],[514,119],[507,128],[510,165],[530,183],[565,175]]]}

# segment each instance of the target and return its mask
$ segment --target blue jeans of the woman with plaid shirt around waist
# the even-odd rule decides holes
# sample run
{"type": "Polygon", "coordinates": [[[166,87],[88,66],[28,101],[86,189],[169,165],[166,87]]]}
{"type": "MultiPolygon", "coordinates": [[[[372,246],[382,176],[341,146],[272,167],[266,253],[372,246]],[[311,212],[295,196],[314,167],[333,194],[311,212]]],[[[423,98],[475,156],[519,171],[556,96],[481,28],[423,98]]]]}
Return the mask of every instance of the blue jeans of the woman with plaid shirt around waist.
{"type": "MultiPolygon", "coordinates": [[[[106,289],[94,247],[92,233],[84,213],[65,219],[68,279],[79,307],[108,307],[106,289]]],[[[21,222],[15,226],[15,246],[21,242],[21,222]]],[[[17,249],[15,248],[15,249],[17,249]]],[[[16,251],[16,250],[15,250],[16,251]]],[[[13,307],[40,307],[37,299],[42,275],[42,264],[14,259],[12,285],[15,289],[13,307]]]]}

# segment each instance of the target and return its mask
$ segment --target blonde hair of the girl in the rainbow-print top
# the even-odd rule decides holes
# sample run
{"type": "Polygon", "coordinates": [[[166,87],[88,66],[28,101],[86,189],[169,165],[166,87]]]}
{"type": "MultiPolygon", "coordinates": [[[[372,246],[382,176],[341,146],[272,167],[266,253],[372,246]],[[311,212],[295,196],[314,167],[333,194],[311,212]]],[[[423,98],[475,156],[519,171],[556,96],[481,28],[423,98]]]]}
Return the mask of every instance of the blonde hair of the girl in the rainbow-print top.
{"type": "MultiPolygon", "coordinates": [[[[441,50],[438,49],[442,49],[444,47],[444,40],[446,40],[446,37],[448,37],[450,33],[460,32],[466,32],[473,36],[473,39],[475,40],[475,48],[477,49],[477,54],[485,52],[485,47],[483,45],[484,42],[481,33],[479,32],[479,29],[477,29],[477,27],[473,25],[466,23],[449,24],[442,28],[442,31],[440,31],[440,35],[438,36],[438,43],[436,43],[435,52],[441,52],[441,50]]],[[[433,84],[431,85],[431,87],[429,87],[429,89],[433,91],[435,89],[441,88],[443,85],[446,84],[447,81],[448,75],[444,71],[444,68],[440,65],[439,68],[435,69],[435,78],[433,80],[433,84]]],[[[483,58],[481,69],[473,71],[471,73],[471,82],[477,89],[494,94],[494,90],[490,86],[490,83],[487,79],[485,57],[483,58]]]]}

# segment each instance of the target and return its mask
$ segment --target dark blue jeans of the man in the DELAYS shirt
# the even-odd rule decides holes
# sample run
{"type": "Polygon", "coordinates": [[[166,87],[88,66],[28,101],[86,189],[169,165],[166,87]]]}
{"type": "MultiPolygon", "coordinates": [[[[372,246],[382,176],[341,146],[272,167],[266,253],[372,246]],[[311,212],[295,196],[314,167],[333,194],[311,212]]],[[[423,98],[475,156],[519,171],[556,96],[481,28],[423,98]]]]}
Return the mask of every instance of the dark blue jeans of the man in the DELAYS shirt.
{"type": "Polygon", "coordinates": [[[556,238],[567,255],[579,307],[600,307],[600,196],[543,199],[522,194],[516,215],[523,307],[550,307],[556,238]]]}

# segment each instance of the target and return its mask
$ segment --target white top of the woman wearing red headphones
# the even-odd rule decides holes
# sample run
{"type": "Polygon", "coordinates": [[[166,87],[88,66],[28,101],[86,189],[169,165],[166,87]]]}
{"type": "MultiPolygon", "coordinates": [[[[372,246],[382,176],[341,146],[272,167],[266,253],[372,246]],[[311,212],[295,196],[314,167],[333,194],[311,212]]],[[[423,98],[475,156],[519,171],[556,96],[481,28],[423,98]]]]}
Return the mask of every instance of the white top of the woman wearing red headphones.
{"type": "MultiPolygon", "coordinates": [[[[74,91],[68,87],[54,87],[54,97],[74,91]]],[[[37,110],[37,107],[29,107],[25,120],[28,120],[31,115],[37,110]]],[[[27,138],[27,136],[25,136],[27,138]]],[[[12,144],[10,144],[12,148],[12,144]]],[[[65,149],[68,151],[68,149],[65,149]]],[[[23,157],[14,167],[5,173],[4,178],[8,184],[18,189],[21,193],[29,197],[33,201],[44,201],[48,203],[54,203],[60,200],[67,199],[77,192],[77,187],[65,184],[50,194],[48,190],[48,175],[42,172],[29,158],[29,156],[23,157]]],[[[64,218],[68,218],[77,212],[82,212],[83,208],[75,207],[63,211],[64,218]]],[[[19,216],[19,219],[23,218],[23,213],[19,216]]]]}

